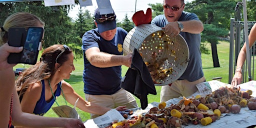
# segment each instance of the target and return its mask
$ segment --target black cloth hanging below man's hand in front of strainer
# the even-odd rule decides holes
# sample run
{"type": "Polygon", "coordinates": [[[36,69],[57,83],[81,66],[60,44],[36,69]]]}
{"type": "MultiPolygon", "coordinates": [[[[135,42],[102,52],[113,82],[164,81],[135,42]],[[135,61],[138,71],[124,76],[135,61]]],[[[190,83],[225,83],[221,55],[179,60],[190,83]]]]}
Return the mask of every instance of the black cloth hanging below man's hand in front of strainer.
{"type": "Polygon", "coordinates": [[[147,107],[148,93],[156,95],[152,77],[136,49],[133,51],[131,67],[123,76],[120,87],[139,98],[142,109],[147,107]]]}

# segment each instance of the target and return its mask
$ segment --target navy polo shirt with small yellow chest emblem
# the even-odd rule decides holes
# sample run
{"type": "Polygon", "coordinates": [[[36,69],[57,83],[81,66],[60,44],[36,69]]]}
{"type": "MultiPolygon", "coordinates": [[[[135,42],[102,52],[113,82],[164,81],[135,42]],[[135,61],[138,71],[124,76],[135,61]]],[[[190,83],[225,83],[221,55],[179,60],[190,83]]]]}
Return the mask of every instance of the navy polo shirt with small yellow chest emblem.
{"type": "MultiPolygon", "coordinates": [[[[114,38],[108,41],[100,36],[98,28],[86,31],[82,36],[83,54],[90,47],[98,47],[102,52],[122,55],[122,44],[126,35],[127,31],[121,27],[116,27],[114,38]]],[[[120,89],[121,66],[96,67],[90,64],[85,54],[83,55],[83,61],[84,93],[113,94],[120,89]]]]}

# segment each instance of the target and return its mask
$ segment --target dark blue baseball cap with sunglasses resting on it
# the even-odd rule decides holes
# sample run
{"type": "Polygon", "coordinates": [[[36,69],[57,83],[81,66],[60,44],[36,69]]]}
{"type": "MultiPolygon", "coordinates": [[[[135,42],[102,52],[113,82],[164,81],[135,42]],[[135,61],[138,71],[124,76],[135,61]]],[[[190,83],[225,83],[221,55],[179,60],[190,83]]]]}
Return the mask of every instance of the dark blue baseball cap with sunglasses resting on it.
{"type": "Polygon", "coordinates": [[[108,14],[100,14],[99,9],[97,8],[94,12],[94,18],[97,23],[98,32],[104,32],[106,30],[111,30],[116,27],[116,15],[114,13],[108,13],[108,14]]]}

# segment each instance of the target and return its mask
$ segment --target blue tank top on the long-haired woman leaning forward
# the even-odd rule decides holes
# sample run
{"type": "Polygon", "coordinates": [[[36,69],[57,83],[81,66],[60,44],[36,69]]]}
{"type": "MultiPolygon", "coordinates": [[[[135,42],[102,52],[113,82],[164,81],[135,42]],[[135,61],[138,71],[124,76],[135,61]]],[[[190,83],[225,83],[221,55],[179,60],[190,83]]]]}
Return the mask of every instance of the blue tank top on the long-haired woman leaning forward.
{"type": "MultiPolygon", "coordinates": [[[[61,92],[60,86],[61,86],[61,84],[62,84],[62,82],[60,81],[57,85],[57,89],[54,92],[55,97],[60,95],[60,92],[61,92]]],[[[37,114],[37,115],[44,115],[50,109],[50,107],[52,106],[52,104],[55,101],[53,97],[49,102],[47,102],[45,100],[44,80],[41,80],[41,85],[42,85],[41,97],[36,102],[35,107],[34,107],[34,111],[33,111],[33,114],[37,114]]]]}

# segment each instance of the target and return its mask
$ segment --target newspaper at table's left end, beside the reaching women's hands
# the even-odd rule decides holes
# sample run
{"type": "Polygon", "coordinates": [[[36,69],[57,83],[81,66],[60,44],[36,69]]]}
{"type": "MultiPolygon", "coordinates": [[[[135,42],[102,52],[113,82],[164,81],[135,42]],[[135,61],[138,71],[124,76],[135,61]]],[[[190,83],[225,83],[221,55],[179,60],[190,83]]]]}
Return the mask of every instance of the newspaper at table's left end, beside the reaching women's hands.
{"type": "Polygon", "coordinates": [[[98,127],[106,127],[108,125],[110,125],[112,122],[118,122],[124,120],[124,117],[120,114],[119,111],[117,111],[116,109],[110,109],[109,111],[107,111],[105,114],[100,115],[98,117],[95,117],[93,119],[88,119],[86,120],[83,124],[84,126],[87,127],[91,127],[91,128],[98,128],[98,127]]]}

